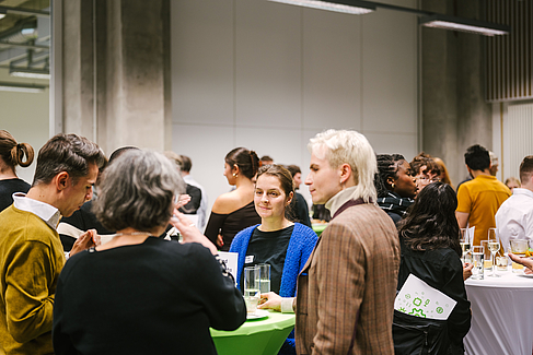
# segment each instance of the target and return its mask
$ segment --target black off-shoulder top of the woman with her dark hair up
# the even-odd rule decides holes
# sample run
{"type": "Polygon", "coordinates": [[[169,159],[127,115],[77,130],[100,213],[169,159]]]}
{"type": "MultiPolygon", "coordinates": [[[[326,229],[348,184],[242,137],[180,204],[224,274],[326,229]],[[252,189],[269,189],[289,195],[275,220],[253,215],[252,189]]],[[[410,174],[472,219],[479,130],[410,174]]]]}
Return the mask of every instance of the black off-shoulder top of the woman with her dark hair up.
{"type": "Polygon", "coordinates": [[[257,211],[255,211],[254,201],[252,201],[245,206],[229,214],[211,212],[205,234],[209,240],[217,245],[219,229],[222,229],[224,245],[222,248],[220,248],[220,250],[228,251],[230,250],[233,237],[235,237],[239,232],[259,223],[260,217],[257,214],[257,211]]]}

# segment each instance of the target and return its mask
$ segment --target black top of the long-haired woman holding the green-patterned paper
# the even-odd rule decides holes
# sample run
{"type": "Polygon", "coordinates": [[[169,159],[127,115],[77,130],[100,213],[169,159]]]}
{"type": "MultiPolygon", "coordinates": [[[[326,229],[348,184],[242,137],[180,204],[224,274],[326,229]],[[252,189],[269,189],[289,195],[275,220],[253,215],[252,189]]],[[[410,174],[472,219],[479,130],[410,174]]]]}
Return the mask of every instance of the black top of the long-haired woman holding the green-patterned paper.
{"type": "MultiPolygon", "coordinates": [[[[471,303],[466,297],[463,265],[459,255],[451,248],[415,251],[407,248],[401,238],[399,291],[413,273],[415,276],[457,301],[447,320],[451,344],[463,347],[463,338],[471,327],[471,303]]],[[[395,316],[396,317],[396,316],[395,316]]]]}

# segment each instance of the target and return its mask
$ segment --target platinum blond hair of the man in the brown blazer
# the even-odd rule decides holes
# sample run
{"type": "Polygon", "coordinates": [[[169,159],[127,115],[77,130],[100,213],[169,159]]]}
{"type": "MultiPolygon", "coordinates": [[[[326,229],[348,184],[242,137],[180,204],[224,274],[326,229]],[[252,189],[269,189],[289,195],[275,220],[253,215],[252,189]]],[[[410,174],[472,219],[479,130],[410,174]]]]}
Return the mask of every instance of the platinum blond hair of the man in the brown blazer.
{"type": "Polygon", "coordinates": [[[378,162],[364,135],[356,131],[329,129],[312,138],[308,149],[320,158],[325,157],[332,168],[348,164],[357,186],[351,198],[375,202],[374,175],[378,173],[378,162]]]}

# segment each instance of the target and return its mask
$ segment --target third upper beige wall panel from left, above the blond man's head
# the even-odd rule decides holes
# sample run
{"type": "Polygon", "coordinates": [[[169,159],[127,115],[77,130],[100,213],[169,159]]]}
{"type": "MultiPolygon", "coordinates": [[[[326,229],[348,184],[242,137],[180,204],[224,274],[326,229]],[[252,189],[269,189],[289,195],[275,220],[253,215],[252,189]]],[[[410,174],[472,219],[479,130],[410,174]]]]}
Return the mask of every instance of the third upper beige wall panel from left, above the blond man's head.
{"type": "Polygon", "coordinates": [[[361,16],[303,11],[305,128],[360,129],[361,16]]]}

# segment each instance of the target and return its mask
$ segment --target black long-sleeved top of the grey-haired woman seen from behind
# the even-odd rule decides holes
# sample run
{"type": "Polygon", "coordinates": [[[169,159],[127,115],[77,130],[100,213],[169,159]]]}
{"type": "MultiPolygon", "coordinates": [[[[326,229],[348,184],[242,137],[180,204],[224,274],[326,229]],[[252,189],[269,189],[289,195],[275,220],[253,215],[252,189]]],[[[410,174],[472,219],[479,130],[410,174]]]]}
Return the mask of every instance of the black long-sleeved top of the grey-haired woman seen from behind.
{"type": "Polygon", "coordinates": [[[217,354],[209,327],[235,330],[245,320],[241,292],[207,248],[149,237],[67,261],[54,304],[54,350],[217,354]]]}

